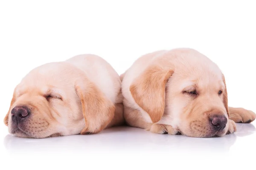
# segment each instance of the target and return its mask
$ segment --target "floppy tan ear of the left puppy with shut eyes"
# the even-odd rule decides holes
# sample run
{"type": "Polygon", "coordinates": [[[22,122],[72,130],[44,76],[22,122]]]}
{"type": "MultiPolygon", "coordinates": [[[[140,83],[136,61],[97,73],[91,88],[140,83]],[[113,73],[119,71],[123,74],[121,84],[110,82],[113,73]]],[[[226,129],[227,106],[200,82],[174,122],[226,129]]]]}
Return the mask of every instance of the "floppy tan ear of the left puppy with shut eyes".
{"type": "Polygon", "coordinates": [[[87,78],[76,82],[75,90],[81,101],[85,120],[81,134],[98,133],[105,129],[114,117],[114,104],[87,78]]]}

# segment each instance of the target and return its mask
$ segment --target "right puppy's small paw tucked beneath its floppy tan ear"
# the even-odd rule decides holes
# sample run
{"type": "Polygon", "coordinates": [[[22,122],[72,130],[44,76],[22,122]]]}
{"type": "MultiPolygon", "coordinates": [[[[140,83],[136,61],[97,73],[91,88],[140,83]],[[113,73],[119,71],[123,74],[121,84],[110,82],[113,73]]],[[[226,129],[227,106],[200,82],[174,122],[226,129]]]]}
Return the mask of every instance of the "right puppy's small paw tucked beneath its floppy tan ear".
{"type": "Polygon", "coordinates": [[[175,135],[178,133],[177,130],[175,130],[170,125],[163,125],[163,124],[153,124],[150,128],[152,133],[159,133],[159,134],[169,134],[169,135],[175,135]]]}

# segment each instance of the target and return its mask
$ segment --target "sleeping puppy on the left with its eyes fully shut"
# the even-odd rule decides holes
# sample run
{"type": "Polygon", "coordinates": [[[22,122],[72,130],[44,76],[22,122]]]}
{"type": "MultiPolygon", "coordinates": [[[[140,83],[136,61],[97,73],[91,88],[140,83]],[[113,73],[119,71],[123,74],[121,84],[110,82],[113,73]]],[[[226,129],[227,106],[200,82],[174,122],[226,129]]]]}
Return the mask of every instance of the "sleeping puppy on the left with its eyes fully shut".
{"type": "Polygon", "coordinates": [[[124,122],[120,86],[116,71],[96,55],[41,65],[16,86],[4,123],[26,138],[99,133],[124,122]]]}

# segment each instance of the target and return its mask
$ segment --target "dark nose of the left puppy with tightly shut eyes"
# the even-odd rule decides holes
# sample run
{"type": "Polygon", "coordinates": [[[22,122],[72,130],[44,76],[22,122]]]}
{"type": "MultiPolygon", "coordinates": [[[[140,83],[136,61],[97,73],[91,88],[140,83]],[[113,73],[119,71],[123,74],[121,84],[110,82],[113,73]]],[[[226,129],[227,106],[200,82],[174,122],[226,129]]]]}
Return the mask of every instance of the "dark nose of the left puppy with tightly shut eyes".
{"type": "Polygon", "coordinates": [[[13,120],[17,120],[17,122],[26,118],[26,116],[28,116],[29,113],[30,111],[26,106],[16,106],[11,111],[13,120]]]}

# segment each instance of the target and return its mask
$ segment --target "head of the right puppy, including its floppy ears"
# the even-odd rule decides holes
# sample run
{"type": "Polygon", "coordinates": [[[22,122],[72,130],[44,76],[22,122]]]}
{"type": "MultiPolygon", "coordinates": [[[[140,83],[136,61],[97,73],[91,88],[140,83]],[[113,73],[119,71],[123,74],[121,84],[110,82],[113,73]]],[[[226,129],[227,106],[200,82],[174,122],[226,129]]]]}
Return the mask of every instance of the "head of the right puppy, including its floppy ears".
{"type": "Polygon", "coordinates": [[[192,49],[175,49],[156,58],[130,88],[153,123],[172,125],[193,137],[223,136],[229,111],[224,75],[192,49]]]}

